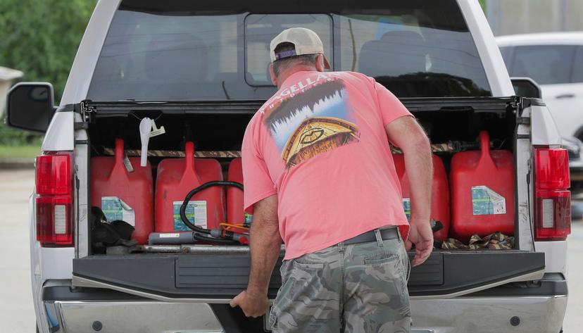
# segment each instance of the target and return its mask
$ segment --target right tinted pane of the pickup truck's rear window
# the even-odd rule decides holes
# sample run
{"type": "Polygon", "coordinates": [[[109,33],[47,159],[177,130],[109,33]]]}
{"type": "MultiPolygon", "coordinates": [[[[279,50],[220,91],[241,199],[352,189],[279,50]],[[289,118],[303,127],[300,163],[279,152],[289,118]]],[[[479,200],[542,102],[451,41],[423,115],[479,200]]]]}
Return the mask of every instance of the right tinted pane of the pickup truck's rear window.
{"type": "Polygon", "coordinates": [[[412,6],[342,16],[340,68],[375,77],[399,97],[489,96],[472,36],[455,13],[412,6]]]}

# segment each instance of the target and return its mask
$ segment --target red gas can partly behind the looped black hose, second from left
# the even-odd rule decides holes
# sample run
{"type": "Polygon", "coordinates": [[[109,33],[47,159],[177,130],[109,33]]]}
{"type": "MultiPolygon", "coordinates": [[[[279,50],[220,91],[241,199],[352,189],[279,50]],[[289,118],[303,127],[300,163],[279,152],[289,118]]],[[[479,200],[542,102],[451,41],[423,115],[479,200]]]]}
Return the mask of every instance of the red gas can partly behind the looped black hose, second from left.
{"type": "MultiPolygon", "coordinates": [[[[187,142],[185,158],[166,158],[156,176],[156,232],[190,231],[180,219],[180,206],[189,191],[206,182],[222,180],[220,163],[194,158],[194,143],[187,142]]],[[[225,222],[225,191],[208,187],[192,196],[187,217],[194,225],[214,229],[225,222]]]]}

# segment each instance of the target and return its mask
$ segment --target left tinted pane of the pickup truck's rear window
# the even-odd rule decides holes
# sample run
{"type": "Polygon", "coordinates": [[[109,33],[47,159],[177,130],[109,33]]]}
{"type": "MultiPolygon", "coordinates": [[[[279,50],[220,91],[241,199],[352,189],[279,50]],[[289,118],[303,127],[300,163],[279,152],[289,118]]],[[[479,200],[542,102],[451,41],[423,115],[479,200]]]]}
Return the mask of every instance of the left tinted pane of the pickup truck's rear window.
{"type": "Polygon", "coordinates": [[[115,13],[89,99],[225,99],[239,73],[242,15],[115,13]]]}

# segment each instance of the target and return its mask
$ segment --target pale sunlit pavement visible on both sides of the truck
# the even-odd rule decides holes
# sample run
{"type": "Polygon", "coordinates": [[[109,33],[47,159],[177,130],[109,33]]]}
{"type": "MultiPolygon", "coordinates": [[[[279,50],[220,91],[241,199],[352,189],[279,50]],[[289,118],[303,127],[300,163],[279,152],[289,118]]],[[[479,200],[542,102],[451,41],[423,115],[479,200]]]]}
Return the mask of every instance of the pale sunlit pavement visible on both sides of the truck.
{"type": "MultiPolygon", "coordinates": [[[[28,196],[34,170],[0,170],[0,322],[2,332],[35,332],[30,287],[28,196]]],[[[574,220],[568,244],[569,302],[565,333],[583,327],[583,222],[574,220]]]]}

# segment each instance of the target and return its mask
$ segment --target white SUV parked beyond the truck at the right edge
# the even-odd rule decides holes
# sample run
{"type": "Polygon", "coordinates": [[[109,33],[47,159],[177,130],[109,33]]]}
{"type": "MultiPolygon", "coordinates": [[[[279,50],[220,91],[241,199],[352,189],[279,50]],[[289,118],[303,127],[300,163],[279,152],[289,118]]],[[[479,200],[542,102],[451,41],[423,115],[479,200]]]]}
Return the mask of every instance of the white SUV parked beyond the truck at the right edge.
{"type": "Polygon", "coordinates": [[[583,32],[515,34],[496,42],[510,77],[530,77],[563,137],[583,140],[583,32]]]}

